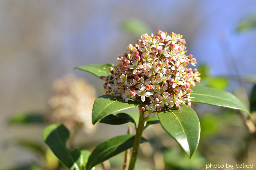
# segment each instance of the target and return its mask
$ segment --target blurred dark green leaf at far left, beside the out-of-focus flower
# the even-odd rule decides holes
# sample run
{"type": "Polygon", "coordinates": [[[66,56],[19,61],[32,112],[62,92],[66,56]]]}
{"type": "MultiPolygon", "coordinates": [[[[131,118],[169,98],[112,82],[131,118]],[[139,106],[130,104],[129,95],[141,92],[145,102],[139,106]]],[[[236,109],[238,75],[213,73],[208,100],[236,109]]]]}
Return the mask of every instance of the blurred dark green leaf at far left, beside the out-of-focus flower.
{"type": "Polygon", "coordinates": [[[31,112],[31,113],[18,113],[12,116],[9,120],[10,124],[38,124],[45,123],[44,115],[31,112]]]}

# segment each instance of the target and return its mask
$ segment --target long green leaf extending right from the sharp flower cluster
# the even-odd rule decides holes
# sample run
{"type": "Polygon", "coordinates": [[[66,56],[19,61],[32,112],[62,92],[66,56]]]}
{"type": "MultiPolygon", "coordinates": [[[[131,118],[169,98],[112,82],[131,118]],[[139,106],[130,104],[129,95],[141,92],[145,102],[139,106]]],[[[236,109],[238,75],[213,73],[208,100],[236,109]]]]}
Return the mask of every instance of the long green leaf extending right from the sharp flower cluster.
{"type": "Polygon", "coordinates": [[[250,111],[244,104],[233,94],[210,87],[195,86],[190,97],[195,97],[191,102],[204,103],[208,105],[227,107],[236,110],[242,110],[249,114],[250,111]]]}

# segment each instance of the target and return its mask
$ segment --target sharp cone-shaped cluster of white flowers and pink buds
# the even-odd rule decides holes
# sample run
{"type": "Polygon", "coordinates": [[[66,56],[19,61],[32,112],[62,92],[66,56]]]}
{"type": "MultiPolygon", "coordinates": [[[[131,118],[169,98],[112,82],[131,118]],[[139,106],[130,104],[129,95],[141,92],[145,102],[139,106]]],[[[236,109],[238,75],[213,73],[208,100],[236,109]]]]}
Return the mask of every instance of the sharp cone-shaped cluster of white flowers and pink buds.
{"type": "Polygon", "coordinates": [[[158,30],[141,35],[138,44],[130,44],[127,53],[118,55],[119,64],[110,67],[111,75],[102,77],[106,94],[121,96],[145,103],[144,117],[154,117],[163,107],[191,106],[190,86],[200,82],[193,55],[186,56],[186,43],[182,35],[158,30]]]}

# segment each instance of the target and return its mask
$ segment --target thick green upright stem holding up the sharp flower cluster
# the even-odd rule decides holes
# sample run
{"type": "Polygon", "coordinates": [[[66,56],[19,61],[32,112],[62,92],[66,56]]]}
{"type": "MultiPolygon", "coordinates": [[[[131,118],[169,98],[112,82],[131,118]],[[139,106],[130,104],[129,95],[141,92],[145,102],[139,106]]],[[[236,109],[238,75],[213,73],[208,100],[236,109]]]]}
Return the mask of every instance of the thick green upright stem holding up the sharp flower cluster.
{"type": "Polygon", "coordinates": [[[135,162],[136,162],[137,155],[138,155],[139,145],[141,143],[142,132],[144,130],[144,123],[145,123],[145,118],[143,117],[144,112],[141,111],[141,107],[139,107],[139,109],[140,109],[140,120],[139,120],[138,128],[136,130],[136,135],[135,135],[133,149],[132,149],[132,157],[131,157],[131,161],[130,161],[128,170],[134,169],[135,162]]]}

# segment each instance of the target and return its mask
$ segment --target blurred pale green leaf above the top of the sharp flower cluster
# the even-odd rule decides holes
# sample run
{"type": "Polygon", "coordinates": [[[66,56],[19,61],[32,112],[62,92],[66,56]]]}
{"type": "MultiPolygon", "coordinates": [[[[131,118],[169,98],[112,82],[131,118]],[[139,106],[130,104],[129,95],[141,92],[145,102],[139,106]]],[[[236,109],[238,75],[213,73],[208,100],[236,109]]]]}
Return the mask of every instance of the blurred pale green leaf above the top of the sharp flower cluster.
{"type": "Polygon", "coordinates": [[[150,34],[152,31],[151,27],[138,19],[130,19],[122,22],[121,27],[127,32],[141,36],[144,33],[150,34]]]}

